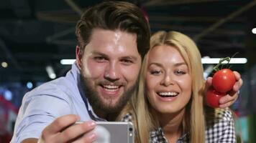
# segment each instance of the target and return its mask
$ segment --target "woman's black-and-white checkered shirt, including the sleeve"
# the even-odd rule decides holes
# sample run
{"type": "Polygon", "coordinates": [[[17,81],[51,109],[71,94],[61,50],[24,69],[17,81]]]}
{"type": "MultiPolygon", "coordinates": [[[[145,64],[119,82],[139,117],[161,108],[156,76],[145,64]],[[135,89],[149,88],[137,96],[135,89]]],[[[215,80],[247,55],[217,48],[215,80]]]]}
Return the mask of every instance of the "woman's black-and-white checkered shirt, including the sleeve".
{"type": "MultiPolygon", "coordinates": [[[[132,114],[127,113],[124,115],[123,122],[132,122],[132,114]]],[[[150,132],[151,143],[168,143],[165,138],[163,130],[159,127],[150,132]]],[[[190,142],[189,133],[183,134],[177,143],[190,142]]],[[[236,142],[234,132],[234,118],[229,109],[219,109],[214,119],[206,122],[206,142],[208,143],[233,143],[236,142]]]]}

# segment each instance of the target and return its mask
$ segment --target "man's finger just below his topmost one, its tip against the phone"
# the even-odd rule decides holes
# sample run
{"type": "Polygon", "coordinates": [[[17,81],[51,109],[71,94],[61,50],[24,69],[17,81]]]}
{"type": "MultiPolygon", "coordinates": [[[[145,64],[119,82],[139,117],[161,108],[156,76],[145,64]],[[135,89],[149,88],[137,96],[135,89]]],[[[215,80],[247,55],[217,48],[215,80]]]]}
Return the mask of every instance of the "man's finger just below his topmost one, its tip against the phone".
{"type": "MultiPolygon", "coordinates": [[[[59,134],[59,139],[61,142],[68,142],[73,139],[78,139],[83,134],[87,134],[96,127],[94,121],[83,122],[82,124],[74,124],[68,127],[63,132],[59,134]]],[[[90,136],[91,137],[91,136],[90,136]]]]}

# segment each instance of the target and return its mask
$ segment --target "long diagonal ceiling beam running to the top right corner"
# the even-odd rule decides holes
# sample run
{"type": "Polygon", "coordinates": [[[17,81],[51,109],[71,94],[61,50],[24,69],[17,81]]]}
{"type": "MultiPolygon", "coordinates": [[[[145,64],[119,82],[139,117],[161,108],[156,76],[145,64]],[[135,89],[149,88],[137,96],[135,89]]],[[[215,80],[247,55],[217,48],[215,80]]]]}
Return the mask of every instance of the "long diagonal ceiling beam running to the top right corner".
{"type": "Polygon", "coordinates": [[[200,34],[197,34],[193,37],[195,41],[198,41],[202,37],[204,37],[206,34],[209,34],[211,31],[214,31],[216,28],[221,26],[222,24],[226,23],[230,19],[234,19],[234,17],[239,16],[239,14],[242,14],[244,11],[247,11],[248,9],[252,8],[252,6],[255,6],[256,0],[251,1],[250,3],[246,4],[245,6],[242,6],[240,9],[237,9],[237,11],[232,12],[232,14],[229,14],[228,16],[224,17],[223,19],[220,19],[216,23],[209,26],[207,29],[204,29],[204,31],[201,31],[200,34]]]}

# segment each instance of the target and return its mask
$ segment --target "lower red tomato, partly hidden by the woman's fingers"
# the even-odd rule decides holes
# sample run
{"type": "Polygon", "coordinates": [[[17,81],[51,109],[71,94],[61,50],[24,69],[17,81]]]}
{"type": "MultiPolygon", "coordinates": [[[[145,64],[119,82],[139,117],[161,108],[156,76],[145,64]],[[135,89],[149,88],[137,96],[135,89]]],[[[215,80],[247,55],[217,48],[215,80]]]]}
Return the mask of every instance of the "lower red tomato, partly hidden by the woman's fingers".
{"type": "Polygon", "coordinates": [[[226,93],[217,92],[215,89],[209,89],[206,94],[206,102],[210,107],[219,107],[219,99],[226,93]]]}

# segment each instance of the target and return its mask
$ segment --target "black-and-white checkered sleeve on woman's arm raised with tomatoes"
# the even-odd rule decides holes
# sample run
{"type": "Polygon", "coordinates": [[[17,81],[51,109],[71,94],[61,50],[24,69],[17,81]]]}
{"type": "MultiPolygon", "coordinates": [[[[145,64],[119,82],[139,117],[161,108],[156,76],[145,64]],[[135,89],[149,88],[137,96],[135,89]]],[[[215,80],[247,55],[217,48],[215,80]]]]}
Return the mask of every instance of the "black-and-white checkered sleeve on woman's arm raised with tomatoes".
{"type": "Polygon", "coordinates": [[[234,118],[229,109],[218,109],[216,117],[207,121],[206,124],[206,142],[237,142],[234,132],[234,118]]]}

